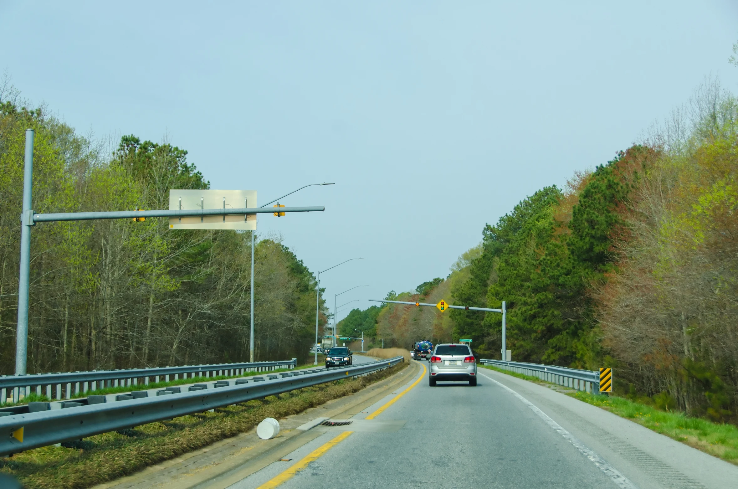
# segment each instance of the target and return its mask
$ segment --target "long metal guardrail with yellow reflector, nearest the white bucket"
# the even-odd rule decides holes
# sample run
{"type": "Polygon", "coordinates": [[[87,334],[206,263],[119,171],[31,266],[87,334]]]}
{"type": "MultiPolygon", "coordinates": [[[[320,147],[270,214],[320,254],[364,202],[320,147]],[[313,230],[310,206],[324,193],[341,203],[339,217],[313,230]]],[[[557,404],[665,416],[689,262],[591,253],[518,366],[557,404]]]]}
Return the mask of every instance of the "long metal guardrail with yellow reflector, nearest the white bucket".
{"type": "Polygon", "coordinates": [[[315,386],[331,380],[367,375],[403,361],[402,357],[395,357],[339,369],[295,370],[283,372],[282,378],[272,380],[263,380],[263,377],[258,377],[262,378],[261,381],[255,377],[246,377],[240,382],[239,380],[221,380],[221,382],[228,382],[228,385],[223,385],[219,389],[211,389],[210,386],[207,388],[196,386],[198,390],[182,393],[173,393],[165,388],[156,391],[154,397],[147,395],[139,399],[127,398],[110,403],[94,403],[86,406],[2,416],[0,417],[0,456],[9,456],[32,448],[80,440],[95,434],[123,430],[231,404],[245,403],[249,400],[315,386]]]}

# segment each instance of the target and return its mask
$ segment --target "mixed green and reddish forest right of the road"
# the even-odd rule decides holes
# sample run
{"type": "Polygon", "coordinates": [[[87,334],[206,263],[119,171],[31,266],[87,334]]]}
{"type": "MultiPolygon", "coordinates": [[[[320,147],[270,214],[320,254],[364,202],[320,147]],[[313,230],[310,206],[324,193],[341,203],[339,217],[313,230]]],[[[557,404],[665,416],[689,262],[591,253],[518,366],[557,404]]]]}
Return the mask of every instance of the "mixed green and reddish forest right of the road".
{"type": "MultiPolygon", "coordinates": [[[[738,99],[708,78],[640,143],[526,197],[446,280],[401,300],[506,301],[513,360],[612,367],[621,394],[735,420],[737,151],[738,99]]],[[[499,314],[430,309],[388,304],[377,335],[405,347],[472,338],[500,358],[499,314]]]]}

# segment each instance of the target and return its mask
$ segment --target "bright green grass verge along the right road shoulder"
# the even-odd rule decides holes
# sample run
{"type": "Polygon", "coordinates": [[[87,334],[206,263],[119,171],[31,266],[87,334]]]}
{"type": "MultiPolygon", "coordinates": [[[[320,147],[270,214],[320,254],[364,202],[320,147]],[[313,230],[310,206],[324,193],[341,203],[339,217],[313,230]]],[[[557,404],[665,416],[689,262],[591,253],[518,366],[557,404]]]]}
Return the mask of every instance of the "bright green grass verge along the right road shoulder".
{"type": "MultiPolygon", "coordinates": [[[[542,385],[555,385],[538,377],[508,372],[494,366],[484,365],[483,368],[542,385]]],[[[736,425],[712,423],[702,418],[687,416],[682,412],[661,411],[654,406],[615,395],[589,394],[584,391],[567,394],[584,403],[632,420],[678,442],[717,456],[726,462],[738,465],[738,426],[736,425]]]]}

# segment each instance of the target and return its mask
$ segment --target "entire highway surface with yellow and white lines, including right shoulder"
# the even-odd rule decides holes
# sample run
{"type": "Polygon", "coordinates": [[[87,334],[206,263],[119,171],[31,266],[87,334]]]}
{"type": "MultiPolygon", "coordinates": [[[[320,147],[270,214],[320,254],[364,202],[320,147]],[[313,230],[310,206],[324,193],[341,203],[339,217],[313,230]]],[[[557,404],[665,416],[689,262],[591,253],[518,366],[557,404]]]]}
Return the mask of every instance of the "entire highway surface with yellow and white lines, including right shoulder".
{"type": "Polygon", "coordinates": [[[323,433],[229,487],[738,487],[734,465],[546,387],[482,368],[476,387],[430,387],[413,363],[351,424],[311,428],[323,433]]]}

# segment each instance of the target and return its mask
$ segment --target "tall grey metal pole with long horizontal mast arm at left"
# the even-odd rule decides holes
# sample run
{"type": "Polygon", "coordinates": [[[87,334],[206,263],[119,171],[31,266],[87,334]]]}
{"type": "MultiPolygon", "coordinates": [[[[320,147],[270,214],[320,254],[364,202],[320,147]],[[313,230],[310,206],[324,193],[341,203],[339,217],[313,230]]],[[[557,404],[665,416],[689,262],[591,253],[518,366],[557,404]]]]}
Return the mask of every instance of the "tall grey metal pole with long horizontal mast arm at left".
{"type": "MultiPolygon", "coordinates": [[[[161,211],[102,211],[34,213],[31,209],[33,182],[33,136],[32,129],[26,130],[26,153],[23,176],[23,211],[21,213],[21,263],[18,273],[18,324],[15,335],[15,375],[26,375],[28,358],[28,295],[31,269],[31,226],[37,222],[89,221],[93,219],[136,219],[146,217],[201,217],[230,216],[273,213],[272,208],[238,209],[174,209],[161,211]]],[[[320,207],[282,207],[281,212],[323,212],[320,207]]],[[[143,220],[143,219],[141,219],[143,220]]],[[[253,231],[252,231],[253,236],[253,231]]],[[[252,238],[253,239],[253,238],[252,238]]],[[[253,254],[252,254],[253,256],[253,254]]],[[[253,259],[253,258],[252,258],[253,259]]],[[[253,262],[252,262],[253,263],[253,262]]],[[[253,273],[252,267],[252,273],[253,273]]],[[[253,282],[253,278],[252,278],[253,282]]],[[[252,287],[253,290],[253,287],[252,287]]],[[[253,308],[252,308],[253,314],[253,308]]],[[[253,345],[253,337],[252,337],[253,345]]]]}

